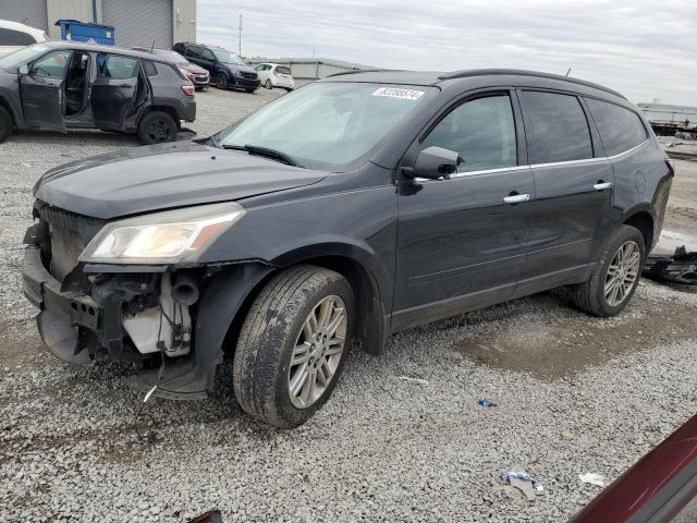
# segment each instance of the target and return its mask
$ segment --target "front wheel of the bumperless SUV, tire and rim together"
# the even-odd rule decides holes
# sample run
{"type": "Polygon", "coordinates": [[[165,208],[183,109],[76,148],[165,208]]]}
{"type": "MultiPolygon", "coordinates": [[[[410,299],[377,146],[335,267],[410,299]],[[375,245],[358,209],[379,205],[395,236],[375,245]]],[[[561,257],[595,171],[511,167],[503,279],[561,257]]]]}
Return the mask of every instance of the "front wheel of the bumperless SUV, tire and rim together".
{"type": "MultiPolygon", "coordinates": [[[[273,277],[252,304],[237,340],[233,386],[242,409],[281,428],[308,421],[325,404],[341,376],[353,318],[353,292],[338,272],[304,265],[273,277]],[[342,302],[345,321],[338,324],[335,333],[321,340],[308,338],[314,332],[308,327],[310,316],[319,318],[321,326],[320,313],[331,311],[329,315],[337,323],[342,302]],[[333,373],[328,373],[331,369],[333,373]],[[303,376],[313,379],[299,379],[303,376]],[[296,393],[292,393],[292,385],[296,393]]],[[[321,337],[322,329],[318,330],[321,337]]]]}

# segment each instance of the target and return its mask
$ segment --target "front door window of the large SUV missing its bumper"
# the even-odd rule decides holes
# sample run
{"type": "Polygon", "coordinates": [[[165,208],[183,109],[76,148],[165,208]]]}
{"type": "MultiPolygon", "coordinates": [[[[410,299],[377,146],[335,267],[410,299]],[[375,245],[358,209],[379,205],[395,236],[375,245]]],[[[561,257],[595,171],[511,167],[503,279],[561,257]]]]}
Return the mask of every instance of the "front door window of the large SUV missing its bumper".
{"type": "Polygon", "coordinates": [[[457,106],[426,136],[420,148],[431,146],[460,153],[464,162],[458,172],[515,166],[517,148],[511,98],[488,96],[457,106]]]}

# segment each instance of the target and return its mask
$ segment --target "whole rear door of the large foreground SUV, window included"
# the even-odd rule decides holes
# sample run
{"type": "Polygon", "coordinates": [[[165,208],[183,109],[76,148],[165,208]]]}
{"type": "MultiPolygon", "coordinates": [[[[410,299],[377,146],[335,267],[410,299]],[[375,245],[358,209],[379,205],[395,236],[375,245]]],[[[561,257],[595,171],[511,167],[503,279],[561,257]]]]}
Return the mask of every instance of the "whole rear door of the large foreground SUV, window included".
{"type": "Polygon", "coordinates": [[[585,278],[608,234],[613,171],[583,101],[573,94],[521,89],[528,161],[530,250],[516,295],[585,278]]]}

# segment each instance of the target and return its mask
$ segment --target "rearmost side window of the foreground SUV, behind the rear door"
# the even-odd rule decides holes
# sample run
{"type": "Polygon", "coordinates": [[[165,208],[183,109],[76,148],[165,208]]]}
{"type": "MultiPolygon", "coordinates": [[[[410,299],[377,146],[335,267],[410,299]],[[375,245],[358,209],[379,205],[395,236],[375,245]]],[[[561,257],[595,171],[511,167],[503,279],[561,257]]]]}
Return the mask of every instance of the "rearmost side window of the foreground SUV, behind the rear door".
{"type": "Polygon", "coordinates": [[[608,156],[636,147],[648,136],[638,114],[607,101],[586,99],[608,156]]]}

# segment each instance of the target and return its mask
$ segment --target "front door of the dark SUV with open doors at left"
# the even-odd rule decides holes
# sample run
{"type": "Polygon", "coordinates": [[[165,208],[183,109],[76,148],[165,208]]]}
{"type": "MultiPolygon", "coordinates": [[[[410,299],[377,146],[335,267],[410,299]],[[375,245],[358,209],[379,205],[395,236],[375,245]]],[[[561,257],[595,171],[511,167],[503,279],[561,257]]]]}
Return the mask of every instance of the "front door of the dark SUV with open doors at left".
{"type": "Polygon", "coordinates": [[[65,131],[63,81],[72,51],[51,51],[28,65],[20,75],[24,120],[35,129],[65,131]]]}

